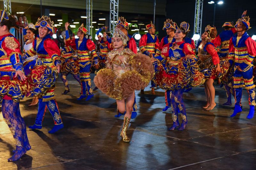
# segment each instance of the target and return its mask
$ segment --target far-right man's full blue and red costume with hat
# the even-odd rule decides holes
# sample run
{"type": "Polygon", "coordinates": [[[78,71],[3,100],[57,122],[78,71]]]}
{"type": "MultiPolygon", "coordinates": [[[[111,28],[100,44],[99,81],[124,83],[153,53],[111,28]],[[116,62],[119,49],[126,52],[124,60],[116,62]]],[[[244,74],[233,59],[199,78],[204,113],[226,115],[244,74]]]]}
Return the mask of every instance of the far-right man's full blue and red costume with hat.
{"type": "MultiPolygon", "coordinates": [[[[246,31],[250,29],[250,18],[248,16],[238,19],[237,25],[245,25],[246,31]]],[[[235,110],[231,117],[242,111],[241,99],[243,87],[247,89],[249,95],[250,111],[247,116],[251,119],[254,116],[255,85],[253,84],[253,60],[256,56],[256,42],[244,32],[240,37],[233,36],[230,39],[228,61],[232,67],[234,64],[234,88],[235,88],[235,110]]]]}

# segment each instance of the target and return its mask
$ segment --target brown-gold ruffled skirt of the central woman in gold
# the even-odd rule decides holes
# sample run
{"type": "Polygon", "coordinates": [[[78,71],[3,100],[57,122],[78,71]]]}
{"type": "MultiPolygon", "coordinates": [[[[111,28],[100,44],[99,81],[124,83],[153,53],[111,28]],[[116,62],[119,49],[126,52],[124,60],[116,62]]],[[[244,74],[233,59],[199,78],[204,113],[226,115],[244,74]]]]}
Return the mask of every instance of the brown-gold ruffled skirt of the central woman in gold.
{"type": "Polygon", "coordinates": [[[118,77],[110,68],[100,69],[93,81],[109,97],[116,100],[126,99],[132,95],[134,90],[144,89],[155,72],[150,58],[142,53],[136,54],[130,65],[132,70],[118,77]]]}

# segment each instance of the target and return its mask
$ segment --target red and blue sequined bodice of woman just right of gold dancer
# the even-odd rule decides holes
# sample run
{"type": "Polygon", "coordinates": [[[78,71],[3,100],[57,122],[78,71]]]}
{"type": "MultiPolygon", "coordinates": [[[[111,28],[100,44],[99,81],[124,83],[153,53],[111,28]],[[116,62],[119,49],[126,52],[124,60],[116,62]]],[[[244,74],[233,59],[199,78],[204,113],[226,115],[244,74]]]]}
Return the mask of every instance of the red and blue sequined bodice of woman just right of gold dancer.
{"type": "Polygon", "coordinates": [[[162,49],[160,59],[165,72],[168,74],[177,74],[177,65],[179,63],[179,60],[181,59],[181,57],[185,57],[188,54],[195,55],[191,45],[185,43],[185,41],[175,41],[173,43],[166,44],[162,49]],[[176,49],[174,49],[175,44],[178,45],[176,49]]]}

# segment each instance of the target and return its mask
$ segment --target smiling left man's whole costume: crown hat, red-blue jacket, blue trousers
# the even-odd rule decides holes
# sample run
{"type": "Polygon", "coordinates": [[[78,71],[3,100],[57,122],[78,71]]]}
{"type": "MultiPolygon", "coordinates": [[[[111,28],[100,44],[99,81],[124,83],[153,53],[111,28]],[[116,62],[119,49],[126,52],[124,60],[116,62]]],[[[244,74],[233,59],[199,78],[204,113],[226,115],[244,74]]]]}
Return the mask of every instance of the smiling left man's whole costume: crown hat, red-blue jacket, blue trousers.
{"type": "MultiPolygon", "coordinates": [[[[54,31],[53,22],[47,16],[42,16],[42,18],[38,18],[36,28],[39,27],[46,27],[51,32],[54,31]]],[[[52,70],[56,73],[58,72],[56,66],[61,65],[60,49],[58,45],[52,40],[50,34],[47,34],[42,39],[36,37],[33,42],[33,47],[28,50],[23,57],[26,58],[34,55],[37,55],[38,59],[42,61],[43,65],[52,68],[52,70]]],[[[55,124],[55,126],[51,131],[49,131],[49,133],[55,133],[56,131],[64,127],[60,117],[59,107],[54,96],[54,89],[55,86],[51,87],[46,91],[46,93],[42,95],[42,98],[39,99],[36,122],[33,126],[29,126],[30,129],[42,128],[42,122],[44,120],[44,114],[47,108],[50,111],[55,124]]]]}

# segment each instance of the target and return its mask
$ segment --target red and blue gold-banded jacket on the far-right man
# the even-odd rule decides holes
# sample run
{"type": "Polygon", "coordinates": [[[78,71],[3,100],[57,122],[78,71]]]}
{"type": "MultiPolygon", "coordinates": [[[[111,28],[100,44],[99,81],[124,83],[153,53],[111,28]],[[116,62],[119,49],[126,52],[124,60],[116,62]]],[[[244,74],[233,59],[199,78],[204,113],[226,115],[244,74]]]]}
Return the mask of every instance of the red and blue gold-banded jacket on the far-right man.
{"type": "Polygon", "coordinates": [[[237,35],[230,39],[228,61],[232,65],[240,66],[243,71],[253,67],[256,55],[256,42],[245,32],[241,37],[237,35]]]}

